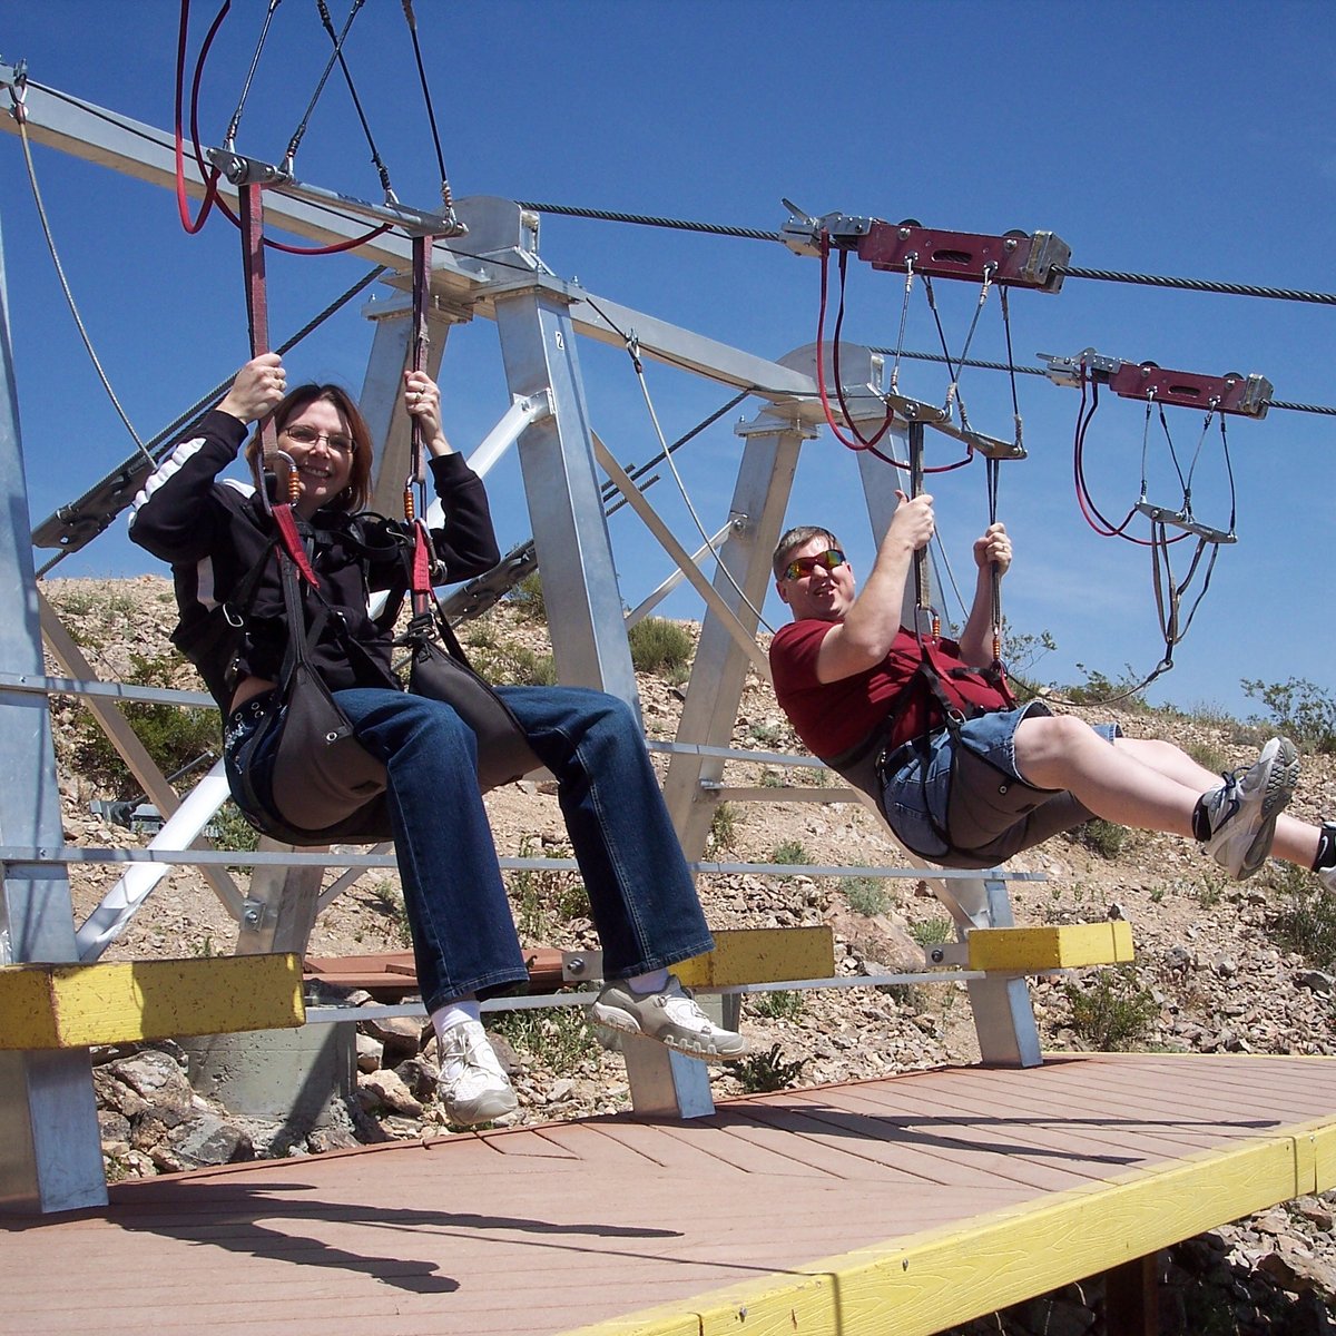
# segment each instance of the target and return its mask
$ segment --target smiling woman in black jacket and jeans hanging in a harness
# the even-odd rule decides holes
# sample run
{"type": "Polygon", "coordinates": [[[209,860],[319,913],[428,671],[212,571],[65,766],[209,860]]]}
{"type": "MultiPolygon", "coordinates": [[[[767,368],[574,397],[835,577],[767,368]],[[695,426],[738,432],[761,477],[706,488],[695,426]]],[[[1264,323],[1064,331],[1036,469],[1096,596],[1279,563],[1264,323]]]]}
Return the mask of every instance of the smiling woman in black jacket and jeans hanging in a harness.
{"type": "MultiPolygon", "coordinates": [[[[337,386],[285,390],[277,354],[242,367],[196,433],[148,478],[130,533],[172,565],[180,609],[174,640],[224,711],[234,794],[248,788],[271,804],[273,755],[247,741],[281,707],[277,684],[291,628],[277,562],[258,566],[273,533],[261,498],[218,474],[235,458],[247,426],[273,414],[278,446],[301,486],[293,510],[318,597],[333,613],[315,623],[322,629],[313,663],[358,741],[386,770],[418,982],[441,1047],[445,1112],[457,1125],[486,1122],[510,1113],[516,1098],[486,1042],[478,1003],[524,983],[528,971],[478,792],[477,739],[449,705],[393,684],[390,645],[406,581],[395,544],[386,540],[401,526],[359,513],[369,496],[371,442],[357,405],[337,386]],[[216,609],[243,601],[242,585],[248,588],[240,635],[211,635],[216,609]],[[369,597],[381,592],[385,607],[373,616],[369,597]],[[349,653],[349,639],[357,653],[349,653]]],[[[421,428],[446,516],[432,534],[446,578],[480,574],[498,560],[482,482],[445,438],[432,379],[405,373],[403,399],[421,428]]],[[[257,438],[248,452],[258,449],[257,438]]],[[[232,620],[240,620],[235,611],[232,620]]],[[[713,1026],[668,973],[712,943],[632,711],[587,688],[498,691],[557,779],[609,981],[593,1005],[595,1019],[707,1059],[741,1055],[745,1041],[713,1026]]]]}

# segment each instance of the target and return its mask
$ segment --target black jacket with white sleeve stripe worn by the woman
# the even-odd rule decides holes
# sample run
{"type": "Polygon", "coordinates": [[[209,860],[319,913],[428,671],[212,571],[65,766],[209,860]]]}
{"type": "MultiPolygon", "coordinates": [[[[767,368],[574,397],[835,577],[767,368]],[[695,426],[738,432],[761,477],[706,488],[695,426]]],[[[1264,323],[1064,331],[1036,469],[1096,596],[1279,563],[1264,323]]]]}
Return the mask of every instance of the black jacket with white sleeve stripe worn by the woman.
{"type": "MultiPolygon", "coordinates": [[[[236,457],[246,428],[228,413],[210,413],[196,436],[182,441],[150,474],[135,497],[130,537],[171,562],[180,621],[172,641],[191,659],[226,712],[246,676],[278,680],[289,644],[278,562],[261,570],[240,635],[224,609],[269,550],[273,524],[254,489],[218,474],[236,457]]],[[[458,454],[430,460],[436,493],[446,513],[432,532],[448,581],[468,580],[500,560],[482,481],[458,454]]],[[[313,647],[311,661],[331,691],[383,685],[390,672],[390,639],[407,592],[402,550],[411,529],[379,516],[322,509],[299,532],[319,578],[315,593],[303,584],[310,621],[323,599],[334,616],[313,647]],[[385,591],[373,620],[367,596],[385,591]],[[351,636],[370,663],[350,660],[351,636]]]]}

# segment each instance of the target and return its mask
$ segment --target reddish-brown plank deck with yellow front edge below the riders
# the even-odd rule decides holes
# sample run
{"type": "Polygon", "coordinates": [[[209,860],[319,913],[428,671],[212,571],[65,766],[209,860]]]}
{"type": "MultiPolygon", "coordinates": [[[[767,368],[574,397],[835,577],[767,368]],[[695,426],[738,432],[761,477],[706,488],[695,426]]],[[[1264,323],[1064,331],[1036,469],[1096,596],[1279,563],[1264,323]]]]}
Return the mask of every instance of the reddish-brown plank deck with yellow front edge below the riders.
{"type": "Polygon", "coordinates": [[[930,1333],[1336,1185],[1336,1059],[1070,1055],[120,1184],[0,1332],[930,1333]]]}

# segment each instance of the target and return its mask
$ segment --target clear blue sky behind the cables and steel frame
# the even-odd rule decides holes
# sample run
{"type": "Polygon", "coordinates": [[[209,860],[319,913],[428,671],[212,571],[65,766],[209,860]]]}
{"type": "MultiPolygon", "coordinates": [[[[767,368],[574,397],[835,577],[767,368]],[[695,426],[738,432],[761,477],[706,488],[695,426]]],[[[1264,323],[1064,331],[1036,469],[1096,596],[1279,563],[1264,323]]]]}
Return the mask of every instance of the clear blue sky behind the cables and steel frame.
{"type": "MultiPolygon", "coordinates": [[[[342,23],[346,5],[331,5],[342,23]]],[[[1336,100],[1328,4],[493,3],[417,0],[420,32],[457,196],[669,215],[775,230],[780,196],[812,214],[1002,232],[1050,228],[1090,269],[1173,274],[1305,290],[1336,289],[1336,100]]],[[[194,5],[191,51],[212,17],[194,5]]],[[[172,116],[178,5],[164,0],[0,0],[0,57],[31,76],[163,128],[172,116]]],[[[235,106],[263,5],[240,0],[206,72],[202,135],[212,143],[235,106]]],[[[301,118],[329,43],[314,3],[277,12],[238,147],[278,160],[301,118]]],[[[437,202],[436,159],[402,8],[367,0],[346,48],[395,190],[437,202]]],[[[7,108],[4,108],[7,114],[7,108]]],[[[69,281],[130,417],[151,436],[246,357],[235,232],[215,216],[198,236],[164,192],[51,150],[36,150],[39,183],[69,281]]],[[[315,184],[378,198],[365,140],[337,75],[298,156],[315,184]]],[[[17,139],[0,135],[0,224],[8,274],[31,506],[40,520],[79,496],[132,444],[96,383],[60,299],[36,223],[17,139]]],[[[564,277],[766,357],[811,342],[818,263],[762,242],[546,218],[541,251],[564,277]]],[[[270,262],[275,341],[341,293],[355,259],[270,262]]],[[[846,337],[894,345],[900,282],[851,263],[846,337]]],[[[938,286],[958,347],[977,297],[938,286]]],[[[1336,403],[1329,375],[1331,307],[1160,291],[1071,279],[1057,297],[1013,299],[1015,353],[1086,346],[1129,361],[1225,373],[1260,371],[1276,398],[1336,403]]],[[[289,358],[297,378],[361,383],[370,346],[355,310],[289,358]]],[[[910,349],[935,333],[921,294],[910,349]]],[[[1003,355],[995,302],[973,353],[1003,355]]],[[[625,355],[582,345],[596,428],[624,461],[656,442],[625,355]]],[[[728,391],[648,367],[669,438],[728,391]]],[[[508,402],[494,327],[457,330],[442,381],[446,422],[468,450],[508,402]]],[[[902,387],[945,391],[939,367],[910,363],[902,387]]],[[[1009,434],[1005,377],[966,373],[977,426],[1009,434]]],[[[1005,584],[1011,625],[1050,632],[1058,652],[1043,677],[1070,681],[1082,663],[1110,676],[1158,660],[1145,549],[1097,537],[1071,488],[1078,395],[1021,381],[1025,462],[1003,468],[1001,512],[1015,537],[1005,584]]],[[[1201,418],[1170,414],[1190,457],[1201,418]]],[[[1232,420],[1238,544],[1216,565],[1210,592],[1176,669],[1152,699],[1234,712],[1255,707],[1240,679],[1308,677],[1336,691],[1328,570],[1333,549],[1333,420],[1273,410],[1232,420]]],[[[1097,501],[1121,516],[1140,481],[1142,410],[1106,398],[1088,441],[1097,501]]],[[[1152,437],[1157,477],[1162,440],[1152,437]]],[[[725,517],[740,442],[729,422],[679,456],[709,529],[725,517]]],[[[951,456],[954,457],[954,456],[951,456]]],[[[938,454],[945,461],[946,454],[938,454]]],[[[504,546],[529,533],[513,460],[492,485],[504,546]]],[[[986,516],[982,464],[941,478],[939,525],[958,577],[986,516]]],[[[696,537],[673,484],[651,496],[688,548],[696,537]]],[[[1200,518],[1226,520],[1218,438],[1197,465],[1200,518]]],[[[1152,500],[1176,504],[1165,478],[1152,500]]],[[[804,448],[791,522],[846,536],[866,572],[871,537],[852,456],[828,433],[804,448]]],[[[1138,529],[1144,533],[1144,529],[1138,529]]],[[[623,593],[633,605],[668,573],[629,510],[612,521],[623,593]]],[[[57,573],[135,573],[151,562],[118,525],[57,573]]],[[[676,596],[675,616],[700,616],[676,596]]],[[[768,617],[783,609],[774,597],[768,617]]]]}

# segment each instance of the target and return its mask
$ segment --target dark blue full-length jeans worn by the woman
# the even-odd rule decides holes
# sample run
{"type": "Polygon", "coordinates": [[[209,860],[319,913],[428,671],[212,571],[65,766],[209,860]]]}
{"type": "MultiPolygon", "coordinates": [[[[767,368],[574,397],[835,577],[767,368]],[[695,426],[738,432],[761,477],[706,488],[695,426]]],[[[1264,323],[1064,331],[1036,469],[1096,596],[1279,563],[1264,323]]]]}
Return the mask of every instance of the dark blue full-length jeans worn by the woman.
{"type": "MultiPolygon", "coordinates": [[[[625,978],[712,947],[640,724],[584,687],[498,687],[557,780],[557,800],[603,942],[625,978]]],[[[529,974],[476,776],[477,739],[446,704],[399,691],[334,692],[385,763],[394,848],[428,1010],[513,991],[529,974]]],[[[253,758],[263,767],[269,758],[253,758]]],[[[267,791],[267,783],[263,791],[267,791]]]]}

